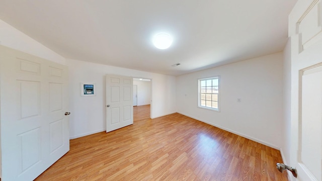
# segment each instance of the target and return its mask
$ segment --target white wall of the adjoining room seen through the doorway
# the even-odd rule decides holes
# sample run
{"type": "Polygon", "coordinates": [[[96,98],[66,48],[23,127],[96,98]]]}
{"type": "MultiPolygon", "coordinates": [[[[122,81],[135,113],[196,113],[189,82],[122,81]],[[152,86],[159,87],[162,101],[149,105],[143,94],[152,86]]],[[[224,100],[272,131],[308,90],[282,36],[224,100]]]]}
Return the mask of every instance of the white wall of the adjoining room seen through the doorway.
{"type": "Polygon", "coordinates": [[[135,81],[137,85],[137,106],[149,105],[151,102],[151,81],[135,81]]]}

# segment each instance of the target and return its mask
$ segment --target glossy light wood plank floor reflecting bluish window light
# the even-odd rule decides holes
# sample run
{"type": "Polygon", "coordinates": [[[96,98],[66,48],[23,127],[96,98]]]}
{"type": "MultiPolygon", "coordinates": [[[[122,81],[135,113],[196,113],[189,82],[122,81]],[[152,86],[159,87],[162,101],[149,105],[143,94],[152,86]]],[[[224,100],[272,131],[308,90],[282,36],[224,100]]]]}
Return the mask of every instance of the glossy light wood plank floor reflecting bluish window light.
{"type": "Polygon", "coordinates": [[[36,180],[287,180],[276,162],[276,149],[176,113],[72,139],[36,180]]]}

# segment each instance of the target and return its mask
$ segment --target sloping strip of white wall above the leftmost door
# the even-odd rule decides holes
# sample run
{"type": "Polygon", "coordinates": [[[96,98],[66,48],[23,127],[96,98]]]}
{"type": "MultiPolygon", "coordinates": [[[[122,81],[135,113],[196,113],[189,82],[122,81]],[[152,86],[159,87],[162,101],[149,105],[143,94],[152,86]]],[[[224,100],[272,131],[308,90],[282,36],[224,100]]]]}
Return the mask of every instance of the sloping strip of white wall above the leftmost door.
{"type": "Polygon", "coordinates": [[[54,51],[0,20],[0,45],[4,45],[25,53],[29,53],[60,64],[65,64],[65,58],[54,51]]]}

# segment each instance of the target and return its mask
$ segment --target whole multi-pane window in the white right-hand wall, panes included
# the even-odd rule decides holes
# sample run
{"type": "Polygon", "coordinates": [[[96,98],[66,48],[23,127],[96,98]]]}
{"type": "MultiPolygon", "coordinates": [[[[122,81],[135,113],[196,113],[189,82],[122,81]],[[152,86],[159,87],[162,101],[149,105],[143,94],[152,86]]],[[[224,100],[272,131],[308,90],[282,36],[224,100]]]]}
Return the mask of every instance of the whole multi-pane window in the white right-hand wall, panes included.
{"type": "Polygon", "coordinates": [[[219,111],[219,76],[199,79],[199,105],[219,111]]]}

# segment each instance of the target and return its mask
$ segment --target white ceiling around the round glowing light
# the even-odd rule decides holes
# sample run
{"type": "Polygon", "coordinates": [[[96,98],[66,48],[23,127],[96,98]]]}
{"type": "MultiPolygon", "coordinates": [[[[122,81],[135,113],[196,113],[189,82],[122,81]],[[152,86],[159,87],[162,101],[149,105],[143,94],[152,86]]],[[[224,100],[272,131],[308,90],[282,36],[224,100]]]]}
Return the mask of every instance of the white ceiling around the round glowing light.
{"type": "Polygon", "coordinates": [[[0,0],[0,19],[65,58],[181,75],[282,51],[295,3],[0,0]],[[152,45],[160,32],[174,37],[169,49],[152,45]]]}

